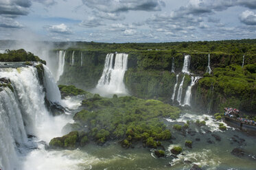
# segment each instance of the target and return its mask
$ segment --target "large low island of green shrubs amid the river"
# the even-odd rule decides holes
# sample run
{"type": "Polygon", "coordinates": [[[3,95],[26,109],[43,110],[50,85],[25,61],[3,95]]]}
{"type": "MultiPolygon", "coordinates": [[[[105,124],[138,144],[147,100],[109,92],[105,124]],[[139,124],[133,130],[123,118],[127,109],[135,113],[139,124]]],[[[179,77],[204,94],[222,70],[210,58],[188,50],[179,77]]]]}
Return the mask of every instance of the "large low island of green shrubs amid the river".
{"type": "MultiPolygon", "coordinates": [[[[159,141],[168,140],[172,135],[160,118],[176,119],[180,113],[178,108],[158,100],[136,97],[108,99],[97,94],[84,99],[82,106],[85,109],[73,117],[75,125],[68,125],[71,130],[82,132],[86,125],[88,141],[102,144],[106,141],[121,140],[121,146],[126,148],[134,143],[142,143],[152,148],[161,146],[159,141]]],[[[57,139],[61,141],[60,138],[57,139]]],[[[79,140],[77,143],[81,145],[79,140]]]]}

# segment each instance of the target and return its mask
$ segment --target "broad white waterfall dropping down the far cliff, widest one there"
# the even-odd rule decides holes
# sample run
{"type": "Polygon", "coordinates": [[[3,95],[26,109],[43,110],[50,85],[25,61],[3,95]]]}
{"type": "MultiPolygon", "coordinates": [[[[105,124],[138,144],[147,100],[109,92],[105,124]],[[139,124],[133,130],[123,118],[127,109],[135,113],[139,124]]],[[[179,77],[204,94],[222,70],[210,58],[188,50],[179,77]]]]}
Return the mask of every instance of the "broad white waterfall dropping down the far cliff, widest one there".
{"type": "Polygon", "coordinates": [[[123,82],[124,73],[127,70],[128,54],[115,53],[115,63],[113,63],[113,58],[113,53],[106,55],[102,77],[100,77],[95,89],[97,93],[103,96],[128,94],[123,82]]]}

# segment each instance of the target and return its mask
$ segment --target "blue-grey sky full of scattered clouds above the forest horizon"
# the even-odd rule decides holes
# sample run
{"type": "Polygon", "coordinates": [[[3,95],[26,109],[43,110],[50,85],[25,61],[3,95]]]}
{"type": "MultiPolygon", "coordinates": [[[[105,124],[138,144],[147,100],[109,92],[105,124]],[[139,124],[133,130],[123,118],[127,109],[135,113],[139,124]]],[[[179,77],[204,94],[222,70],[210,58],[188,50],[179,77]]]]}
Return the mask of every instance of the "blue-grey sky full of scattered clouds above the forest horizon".
{"type": "Polygon", "coordinates": [[[0,0],[0,40],[256,38],[256,0],[0,0]]]}

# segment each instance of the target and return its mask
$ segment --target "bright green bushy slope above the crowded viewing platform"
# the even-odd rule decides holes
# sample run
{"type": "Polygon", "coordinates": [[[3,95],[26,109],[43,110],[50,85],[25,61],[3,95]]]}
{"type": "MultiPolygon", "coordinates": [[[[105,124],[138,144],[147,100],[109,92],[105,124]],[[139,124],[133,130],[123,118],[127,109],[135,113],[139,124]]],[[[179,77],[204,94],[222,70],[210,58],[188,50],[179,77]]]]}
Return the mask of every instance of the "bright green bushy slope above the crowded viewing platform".
{"type": "Polygon", "coordinates": [[[199,80],[196,104],[202,106],[205,104],[204,101],[213,98],[213,106],[215,106],[213,111],[215,112],[222,112],[224,107],[247,112],[256,110],[255,72],[256,64],[248,64],[243,68],[238,65],[229,65],[214,69],[213,75],[199,80]],[[213,86],[214,92],[209,93],[213,86]]]}

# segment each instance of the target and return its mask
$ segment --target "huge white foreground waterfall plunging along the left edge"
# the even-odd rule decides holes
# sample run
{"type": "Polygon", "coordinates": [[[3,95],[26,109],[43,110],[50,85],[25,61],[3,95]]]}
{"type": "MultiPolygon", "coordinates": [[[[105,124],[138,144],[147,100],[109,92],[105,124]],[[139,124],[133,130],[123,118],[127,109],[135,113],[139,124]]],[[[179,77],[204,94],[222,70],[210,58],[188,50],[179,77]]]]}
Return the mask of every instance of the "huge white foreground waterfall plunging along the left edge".
{"type": "Polygon", "coordinates": [[[65,114],[53,117],[47,110],[45,96],[50,102],[62,102],[54,77],[46,66],[44,70],[42,86],[34,66],[0,68],[0,77],[10,80],[14,90],[0,88],[0,169],[40,169],[45,162],[40,153],[46,151],[37,141],[49,143],[62,136],[62,127],[71,121],[65,114]]]}

